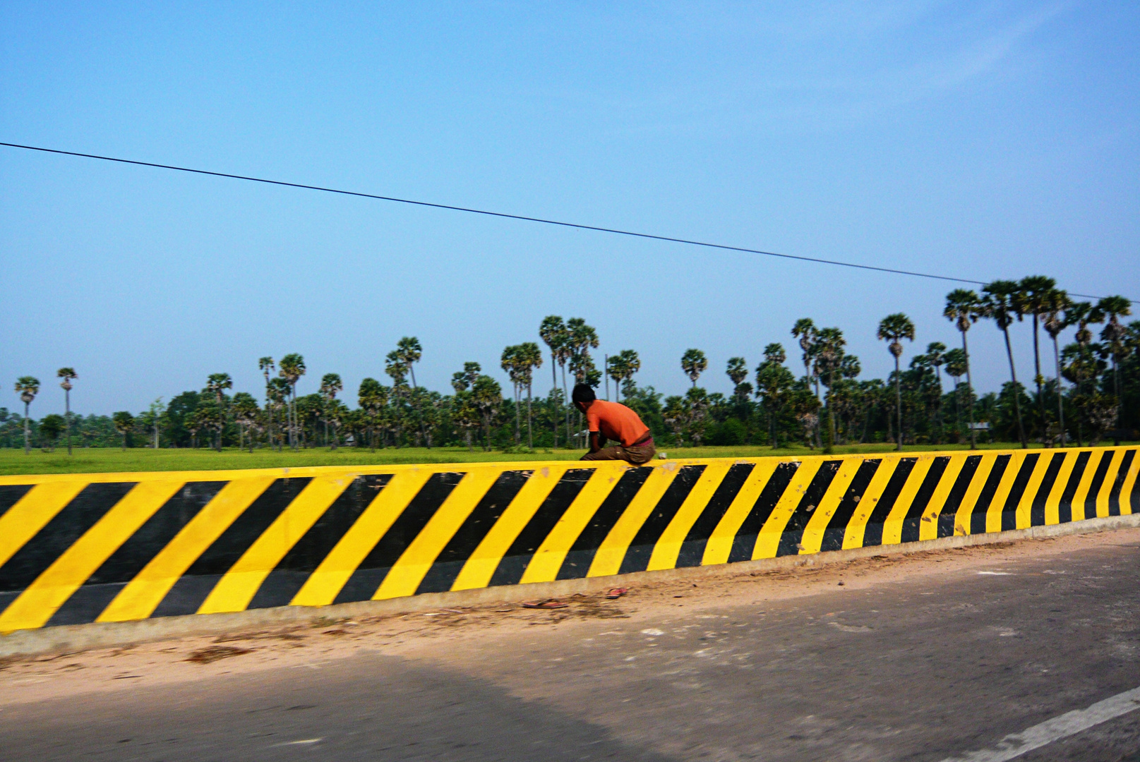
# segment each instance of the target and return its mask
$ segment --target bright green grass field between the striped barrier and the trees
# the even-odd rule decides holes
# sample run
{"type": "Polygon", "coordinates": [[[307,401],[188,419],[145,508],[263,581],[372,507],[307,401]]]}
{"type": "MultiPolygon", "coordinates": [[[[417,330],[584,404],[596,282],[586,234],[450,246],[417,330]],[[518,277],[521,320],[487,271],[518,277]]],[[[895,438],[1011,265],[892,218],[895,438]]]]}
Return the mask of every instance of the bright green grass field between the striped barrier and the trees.
{"type": "MultiPolygon", "coordinates": [[[[986,450],[1005,450],[1016,444],[1001,443],[979,445],[986,450]]],[[[912,452],[930,452],[935,450],[964,450],[963,445],[907,445],[903,448],[912,452]]],[[[855,444],[837,446],[837,454],[890,452],[893,444],[855,444]]],[[[401,448],[376,450],[356,450],[341,448],[314,450],[148,450],[148,449],[91,449],[74,450],[68,457],[65,449],[55,452],[32,450],[24,454],[23,450],[0,450],[0,475],[15,474],[93,474],[107,472],[147,472],[147,470],[222,470],[231,468],[280,468],[299,466],[383,466],[390,464],[459,464],[489,462],[510,460],[577,460],[584,450],[538,450],[534,453],[505,453],[502,451],[470,452],[466,448],[401,448]]],[[[758,458],[766,456],[807,456],[820,454],[819,450],[807,448],[783,448],[773,450],[766,446],[742,445],[722,448],[666,448],[670,458],[758,458]]]]}

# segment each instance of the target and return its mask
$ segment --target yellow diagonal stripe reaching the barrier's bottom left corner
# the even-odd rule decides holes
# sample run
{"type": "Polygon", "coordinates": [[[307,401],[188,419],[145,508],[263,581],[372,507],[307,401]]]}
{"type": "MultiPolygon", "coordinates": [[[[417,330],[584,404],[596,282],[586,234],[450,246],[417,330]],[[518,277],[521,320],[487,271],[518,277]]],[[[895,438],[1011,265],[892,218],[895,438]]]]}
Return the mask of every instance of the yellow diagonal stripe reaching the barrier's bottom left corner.
{"type": "Polygon", "coordinates": [[[136,484],[11,601],[0,614],[0,632],[47,624],[56,609],[181,486],[180,481],[136,484]]]}

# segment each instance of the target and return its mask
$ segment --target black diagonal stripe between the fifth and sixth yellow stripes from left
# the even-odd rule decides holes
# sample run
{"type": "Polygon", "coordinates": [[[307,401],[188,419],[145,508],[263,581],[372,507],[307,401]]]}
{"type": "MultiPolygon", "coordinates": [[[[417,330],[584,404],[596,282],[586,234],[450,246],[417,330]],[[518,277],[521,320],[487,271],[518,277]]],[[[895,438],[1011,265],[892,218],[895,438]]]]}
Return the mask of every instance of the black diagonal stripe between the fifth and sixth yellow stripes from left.
{"type": "Polygon", "coordinates": [[[392,566],[420,535],[431,517],[447,500],[447,495],[451,494],[451,490],[464,476],[465,474],[455,472],[432,474],[427,482],[420,487],[416,497],[408,502],[408,507],[400,513],[400,517],[392,522],[392,525],[384,532],[384,536],[376,541],[373,549],[360,562],[360,566],[352,572],[349,581],[336,595],[335,603],[372,600],[384,577],[392,571],[392,566]]]}

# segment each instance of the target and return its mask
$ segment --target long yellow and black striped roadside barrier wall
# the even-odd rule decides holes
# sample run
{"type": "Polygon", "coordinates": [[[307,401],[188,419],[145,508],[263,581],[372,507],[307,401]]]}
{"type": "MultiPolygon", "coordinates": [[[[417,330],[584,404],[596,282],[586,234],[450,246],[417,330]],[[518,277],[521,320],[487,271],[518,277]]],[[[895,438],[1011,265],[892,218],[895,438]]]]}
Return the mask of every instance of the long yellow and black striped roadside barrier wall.
{"type": "Polygon", "coordinates": [[[1140,511],[1135,448],[0,477],[0,632],[1140,511]]]}

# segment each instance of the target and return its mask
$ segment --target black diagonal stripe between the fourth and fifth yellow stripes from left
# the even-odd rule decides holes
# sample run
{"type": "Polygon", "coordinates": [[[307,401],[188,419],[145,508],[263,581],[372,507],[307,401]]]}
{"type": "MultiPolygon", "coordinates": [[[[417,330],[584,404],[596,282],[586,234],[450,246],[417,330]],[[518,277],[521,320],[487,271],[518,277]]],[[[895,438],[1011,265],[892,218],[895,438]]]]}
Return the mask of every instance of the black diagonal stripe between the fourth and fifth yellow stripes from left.
{"type": "Polygon", "coordinates": [[[336,547],[391,478],[391,474],[353,478],[296,544],[290,548],[274,571],[269,572],[247,608],[288,606],[288,601],[293,600],[309,575],[320,566],[325,556],[336,547]]]}

